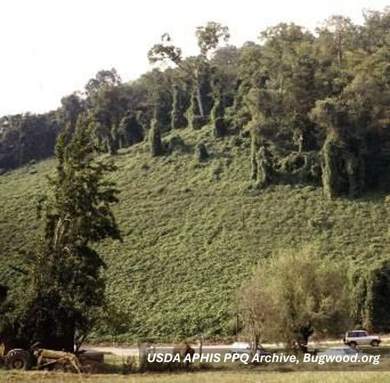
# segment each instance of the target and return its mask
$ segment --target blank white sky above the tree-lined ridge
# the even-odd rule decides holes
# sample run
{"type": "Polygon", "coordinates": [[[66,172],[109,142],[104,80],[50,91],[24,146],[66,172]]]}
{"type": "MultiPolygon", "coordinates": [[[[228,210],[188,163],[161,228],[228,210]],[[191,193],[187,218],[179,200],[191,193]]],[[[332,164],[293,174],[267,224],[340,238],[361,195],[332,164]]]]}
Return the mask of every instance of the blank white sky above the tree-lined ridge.
{"type": "Polygon", "coordinates": [[[0,116],[56,109],[102,69],[124,81],[150,70],[149,48],[169,32],[185,56],[196,52],[195,28],[230,28],[231,43],[256,41],[278,22],[313,29],[330,15],[362,22],[363,8],[385,0],[0,0],[0,116]]]}

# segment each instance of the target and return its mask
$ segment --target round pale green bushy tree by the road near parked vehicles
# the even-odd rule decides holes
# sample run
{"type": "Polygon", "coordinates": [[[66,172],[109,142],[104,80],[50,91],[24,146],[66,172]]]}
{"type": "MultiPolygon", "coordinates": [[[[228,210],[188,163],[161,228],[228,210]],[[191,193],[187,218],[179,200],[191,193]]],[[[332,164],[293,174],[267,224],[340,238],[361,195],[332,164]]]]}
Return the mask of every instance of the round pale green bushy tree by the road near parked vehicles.
{"type": "Polygon", "coordinates": [[[308,338],[339,335],[349,324],[347,275],[318,249],[278,252],[242,286],[239,311],[249,335],[306,349],[308,338]]]}

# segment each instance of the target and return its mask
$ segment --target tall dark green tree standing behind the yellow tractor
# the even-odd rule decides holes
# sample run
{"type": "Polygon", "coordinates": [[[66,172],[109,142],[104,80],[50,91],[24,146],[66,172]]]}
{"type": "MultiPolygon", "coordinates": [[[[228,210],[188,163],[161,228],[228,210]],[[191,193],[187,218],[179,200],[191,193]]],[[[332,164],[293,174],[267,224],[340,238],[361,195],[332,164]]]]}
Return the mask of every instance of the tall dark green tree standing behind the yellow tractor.
{"type": "Polygon", "coordinates": [[[73,351],[104,301],[104,261],[93,244],[121,236],[111,210],[117,190],[105,178],[115,167],[96,157],[93,129],[80,117],[71,138],[66,130],[58,138],[52,193],[39,205],[45,233],[26,256],[29,269],[13,313],[18,336],[30,344],[73,351]]]}

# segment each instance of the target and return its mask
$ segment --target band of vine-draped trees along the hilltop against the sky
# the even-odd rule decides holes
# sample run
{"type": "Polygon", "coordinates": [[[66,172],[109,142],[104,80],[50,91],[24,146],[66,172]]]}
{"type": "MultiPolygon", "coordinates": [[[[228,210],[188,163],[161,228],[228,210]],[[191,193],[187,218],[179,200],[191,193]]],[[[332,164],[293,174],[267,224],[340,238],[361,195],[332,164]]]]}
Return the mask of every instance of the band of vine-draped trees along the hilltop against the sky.
{"type": "Polygon", "coordinates": [[[390,11],[364,15],[363,26],[334,16],[315,34],[282,23],[241,47],[223,45],[228,28],[209,22],[189,58],[164,34],[148,56],[172,67],[125,84],[102,70],[56,111],[2,117],[0,168],[50,157],[58,131],[89,112],[96,144],[112,155],[147,136],[152,154],[167,154],[160,134],[209,124],[217,138],[251,136],[258,186],[323,183],[331,196],[387,187],[390,11]]]}

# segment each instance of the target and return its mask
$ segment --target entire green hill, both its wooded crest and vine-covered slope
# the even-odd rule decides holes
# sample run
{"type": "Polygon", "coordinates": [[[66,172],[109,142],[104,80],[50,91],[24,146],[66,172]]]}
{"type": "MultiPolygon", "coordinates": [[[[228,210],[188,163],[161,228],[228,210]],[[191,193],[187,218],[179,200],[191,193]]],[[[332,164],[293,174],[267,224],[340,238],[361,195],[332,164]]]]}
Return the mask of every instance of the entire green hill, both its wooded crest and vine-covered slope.
{"type": "Polygon", "coordinates": [[[0,281],[11,300],[56,167],[35,160],[83,116],[120,190],[123,242],[95,245],[109,305],[98,339],[234,336],[237,292],[259,261],[307,245],[345,261],[354,323],[389,332],[389,27],[389,9],[368,11],[363,26],[280,24],[235,47],[209,22],[196,57],[164,34],[148,57],[172,67],[126,84],[102,70],[54,112],[2,117],[0,281]]]}

